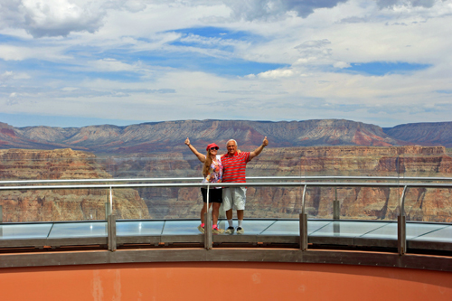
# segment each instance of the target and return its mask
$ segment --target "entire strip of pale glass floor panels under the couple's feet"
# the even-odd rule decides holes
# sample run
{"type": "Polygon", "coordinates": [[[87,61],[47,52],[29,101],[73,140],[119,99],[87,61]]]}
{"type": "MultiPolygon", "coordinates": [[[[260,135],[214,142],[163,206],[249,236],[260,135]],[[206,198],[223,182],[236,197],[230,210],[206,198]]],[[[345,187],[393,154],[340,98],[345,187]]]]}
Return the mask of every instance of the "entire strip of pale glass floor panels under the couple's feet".
{"type": "MultiPolygon", "coordinates": [[[[118,237],[201,235],[199,221],[117,221],[118,237]]],[[[220,228],[227,228],[220,221],[220,228]]],[[[237,221],[234,221],[237,225],[237,221]]],[[[307,222],[307,233],[314,237],[343,237],[397,240],[397,223],[393,221],[323,221],[307,222]]],[[[298,236],[297,220],[245,220],[245,235],[298,236]]],[[[58,223],[0,224],[0,241],[55,238],[107,237],[106,221],[58,223]]],[[[234,233],[234,235],[237,235],[234,233]]],[[[407,223],[407,240],[452,243],[452,225],[421,222],[407,223]]]]}

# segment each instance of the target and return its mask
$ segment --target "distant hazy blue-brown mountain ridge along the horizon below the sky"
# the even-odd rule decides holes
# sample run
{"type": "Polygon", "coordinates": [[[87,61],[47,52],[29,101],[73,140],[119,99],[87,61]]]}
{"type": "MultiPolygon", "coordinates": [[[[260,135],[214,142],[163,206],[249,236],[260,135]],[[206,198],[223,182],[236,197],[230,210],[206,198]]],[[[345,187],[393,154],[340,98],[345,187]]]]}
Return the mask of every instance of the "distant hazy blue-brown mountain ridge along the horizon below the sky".
{"type": "Polygon", "coordinates": [[[185,152],[193,144],[225,145],[234,138],[246,150],[268,136],[272,147],[452,146],[452,122],[381,128],[344,119],[305,121],[180,120],[127,127],[12,127],[0,122],[0,149],[71,148],[95,154],[185,152]]]}

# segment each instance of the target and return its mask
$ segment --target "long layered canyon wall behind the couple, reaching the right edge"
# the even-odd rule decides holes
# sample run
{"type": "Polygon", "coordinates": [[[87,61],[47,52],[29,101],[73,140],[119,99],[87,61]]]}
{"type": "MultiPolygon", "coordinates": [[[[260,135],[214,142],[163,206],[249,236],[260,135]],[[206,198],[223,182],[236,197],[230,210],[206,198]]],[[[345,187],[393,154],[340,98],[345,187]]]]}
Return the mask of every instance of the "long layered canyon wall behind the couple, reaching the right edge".
{"type": "MultiPolygon", "coordinates": [[[[194,155],[148,154],[140,157],[110,158],[106,167],[118,177],[200,176],[201,163],[194,155]],[[116,164],[113,164],[113,161],[116,164]]],[[[266,148],[247,167],[247,176],[272,175],[452,175],[452,158],[443,146],[318,146],[266,148]]],[[[399,213],[400,188],[315,188],[306,193],[310,217],[332,218],[333,201],[341,205],[341,218],[395,220],[399,213]],[[337,194],[337,197],[336,197],[337,194]]],[[[415,189],[406,195],[410,221],[452,221],[452,189],[415,189]]],[[[151,214],[158,218],[197,218],[201,193],[197,188],[143,189],[151,214]]],[[[249,187],[247,217],[297,218],[300,188],[249,187]]]]}

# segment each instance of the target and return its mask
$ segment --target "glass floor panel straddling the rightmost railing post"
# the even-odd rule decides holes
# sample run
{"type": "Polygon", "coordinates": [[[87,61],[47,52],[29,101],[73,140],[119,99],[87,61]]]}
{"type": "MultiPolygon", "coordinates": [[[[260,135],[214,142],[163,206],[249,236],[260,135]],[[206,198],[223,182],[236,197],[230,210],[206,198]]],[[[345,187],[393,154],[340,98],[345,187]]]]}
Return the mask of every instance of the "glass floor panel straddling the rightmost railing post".
{"type": "MultiPolygon", "coordinates": [[[[407,223],[407,240],[412,240],[418,237],[419,235],[423,235],[435,230],[440,230],[445,227],[447,227],[447,225],[407,223]]],[[[375,239],[397,240],[397,222],[391,222],[390,224],[387,224],[384,227],[381,227],[380,229],[366,233],[361,237],[364,239],[375,238],[375,239]]]]}

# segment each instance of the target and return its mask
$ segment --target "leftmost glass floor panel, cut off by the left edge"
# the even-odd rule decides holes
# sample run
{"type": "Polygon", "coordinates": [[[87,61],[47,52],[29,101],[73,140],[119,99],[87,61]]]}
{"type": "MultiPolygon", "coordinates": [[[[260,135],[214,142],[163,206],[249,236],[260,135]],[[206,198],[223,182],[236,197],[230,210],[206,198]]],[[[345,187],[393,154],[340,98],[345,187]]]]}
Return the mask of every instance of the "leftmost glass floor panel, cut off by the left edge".
{"type": "Polygon", "coordinates": [[[52,223],[0,225],[0,240],[46,239],[52,223]]]}

